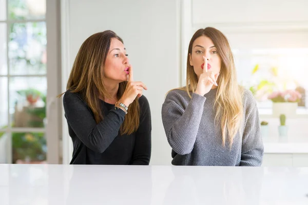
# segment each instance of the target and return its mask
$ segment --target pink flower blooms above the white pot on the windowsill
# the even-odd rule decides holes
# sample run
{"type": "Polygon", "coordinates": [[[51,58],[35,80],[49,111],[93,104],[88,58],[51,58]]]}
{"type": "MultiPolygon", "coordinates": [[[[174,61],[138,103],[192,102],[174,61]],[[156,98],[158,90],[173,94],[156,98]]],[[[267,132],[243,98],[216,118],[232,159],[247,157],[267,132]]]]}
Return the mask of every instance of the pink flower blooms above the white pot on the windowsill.
{"type": "Polygon", "coordinates": [[[268,96],[273,103],[296,103],[301,98],[301,94],[296,90],[276,91],[268,96]]]}

